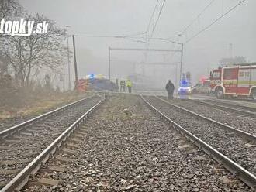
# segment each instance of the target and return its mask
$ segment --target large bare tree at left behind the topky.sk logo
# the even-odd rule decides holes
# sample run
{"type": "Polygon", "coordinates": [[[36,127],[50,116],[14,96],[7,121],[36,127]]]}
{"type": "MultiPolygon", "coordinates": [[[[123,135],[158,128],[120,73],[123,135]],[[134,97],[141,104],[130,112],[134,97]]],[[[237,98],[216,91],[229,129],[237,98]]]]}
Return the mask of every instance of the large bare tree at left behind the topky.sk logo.
{"type": "Polygon", "coordinates": [[[33,30],[39,22],[49,23],[48,33],[31,36],[8,36],[5,38],[5,50],[16,80],[21,86],[29,86],[30,78],[40,69],[58,71],[66,54],[63,41],[65,31],[43,15],[27,15],[26,20],[35,21],[33,30]]]}

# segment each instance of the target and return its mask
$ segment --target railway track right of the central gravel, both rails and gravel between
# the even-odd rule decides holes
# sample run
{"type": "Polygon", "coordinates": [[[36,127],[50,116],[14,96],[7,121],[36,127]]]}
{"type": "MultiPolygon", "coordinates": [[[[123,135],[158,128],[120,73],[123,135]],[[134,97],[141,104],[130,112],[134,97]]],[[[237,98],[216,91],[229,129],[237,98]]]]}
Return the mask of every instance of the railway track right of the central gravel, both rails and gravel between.
{"type": "Polygon", "coordinates": [[[157,97],[142,97],[166,122],[203,149],[250,187],[256,186],[255,135],[205,118],[157,97]],[[250,139],[247,140],[247,139],[250,139]]]}

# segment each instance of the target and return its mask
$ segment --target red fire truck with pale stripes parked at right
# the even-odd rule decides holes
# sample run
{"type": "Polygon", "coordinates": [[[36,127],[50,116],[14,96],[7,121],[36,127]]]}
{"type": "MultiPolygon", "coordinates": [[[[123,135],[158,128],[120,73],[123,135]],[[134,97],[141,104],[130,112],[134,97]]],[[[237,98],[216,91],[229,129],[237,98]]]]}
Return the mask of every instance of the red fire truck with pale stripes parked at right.
{"type": "Polygon", "coordinates": [[[241,63],[211,71],[209,89],[216,98],[247,96],[256,100],[256,63],[241,63]]]}

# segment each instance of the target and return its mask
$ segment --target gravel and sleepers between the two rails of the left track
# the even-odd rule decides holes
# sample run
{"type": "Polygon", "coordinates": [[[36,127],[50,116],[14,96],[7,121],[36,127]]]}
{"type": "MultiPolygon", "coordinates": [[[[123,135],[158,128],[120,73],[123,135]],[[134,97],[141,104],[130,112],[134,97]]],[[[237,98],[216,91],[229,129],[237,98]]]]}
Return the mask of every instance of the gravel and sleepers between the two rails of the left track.
{"type": "Polygon", "coordinates": [[[9,170],[24,168],[65,129],[100,100],[102,100],[100,97],[88,98],[88,100],[65,111],[60,111],[56,115],[29,125],[29,128],[22,130],[20,134],[17,133],[1,141],[0,183],[11,180],[15,173],[8,173],[9,170]]]}

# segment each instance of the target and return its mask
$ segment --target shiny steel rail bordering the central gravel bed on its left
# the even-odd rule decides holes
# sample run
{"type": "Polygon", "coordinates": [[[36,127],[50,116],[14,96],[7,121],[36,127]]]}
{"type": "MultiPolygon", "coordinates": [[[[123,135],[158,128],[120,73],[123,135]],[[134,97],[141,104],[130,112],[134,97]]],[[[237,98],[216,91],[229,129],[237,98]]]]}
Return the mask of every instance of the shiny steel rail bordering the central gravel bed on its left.
{"type": "Polygon", "coordinates": [[[34,175],[38,170],[40,170],[40,166],[45,164],[50,157],[54,155],[54,153],[59,149],[67,138],[75,131],[81,127],[81,125],[88,119],[92,112],[95,111],[96,108],[99,108],[102,103],[106,101],[106,98],[103,98],[102,101],[99,101],[92,108],[90,108],[84,115],[82,115],[78,120],[76,120],[69,128],[67,128],[57,139],[54,140],[47,146],[46,149],[40,153],[39,156],[36,156],[35,159],[29,165],[27,165],[20,173],[16,175],[5,187],[0,190],[0,192],[9,192],[9,191],[19,191],[26,185],[29,181],[30,175],[34,175]]]}

